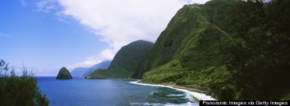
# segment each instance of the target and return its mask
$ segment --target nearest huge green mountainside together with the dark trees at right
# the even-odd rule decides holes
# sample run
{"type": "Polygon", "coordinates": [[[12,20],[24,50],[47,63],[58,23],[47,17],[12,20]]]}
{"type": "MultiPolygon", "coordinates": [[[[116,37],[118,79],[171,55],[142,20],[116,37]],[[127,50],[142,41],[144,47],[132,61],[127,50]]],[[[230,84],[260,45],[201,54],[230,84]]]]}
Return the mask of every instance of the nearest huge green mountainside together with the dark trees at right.
{"type": "Polygon", "coordinates": [[[133,78],[209,90],[218,99],[288,99],[290,2],[185,5],[133,78]]]}

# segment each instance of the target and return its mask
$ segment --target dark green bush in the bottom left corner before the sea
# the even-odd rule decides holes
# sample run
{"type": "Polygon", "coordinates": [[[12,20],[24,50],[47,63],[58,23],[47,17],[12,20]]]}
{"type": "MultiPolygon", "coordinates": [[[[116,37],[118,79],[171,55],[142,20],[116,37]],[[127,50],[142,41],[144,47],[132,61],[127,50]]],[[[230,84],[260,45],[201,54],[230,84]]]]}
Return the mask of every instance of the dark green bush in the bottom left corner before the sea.
{"type": "Polygon", "coordinates": [[[14,69],[8,72],[8,64],[0,60],[0,105],[48,105],[49,101],[41,94],[32,72],[22,68],[18,77],[14,69]]]}

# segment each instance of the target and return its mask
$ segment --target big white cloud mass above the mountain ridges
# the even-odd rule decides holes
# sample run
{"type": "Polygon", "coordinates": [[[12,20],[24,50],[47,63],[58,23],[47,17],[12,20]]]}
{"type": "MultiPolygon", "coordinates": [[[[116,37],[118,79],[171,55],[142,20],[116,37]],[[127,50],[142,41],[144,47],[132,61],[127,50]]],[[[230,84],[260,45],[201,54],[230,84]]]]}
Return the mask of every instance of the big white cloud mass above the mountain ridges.
{"type": "Polygon", "coordinates": [[[101,42],[107,42],[113,49],[106,49],[91,55],[84,62],[66,64],[69,69],[90,67],[106,59],[133,41],[155,42],[166,28],[170,19],[185,4],[204,4],[207,1],[188,0],[59,0],[62,11],[56,13],[61,21],[66,18],[78,20],[89,26],[101,42]]]}

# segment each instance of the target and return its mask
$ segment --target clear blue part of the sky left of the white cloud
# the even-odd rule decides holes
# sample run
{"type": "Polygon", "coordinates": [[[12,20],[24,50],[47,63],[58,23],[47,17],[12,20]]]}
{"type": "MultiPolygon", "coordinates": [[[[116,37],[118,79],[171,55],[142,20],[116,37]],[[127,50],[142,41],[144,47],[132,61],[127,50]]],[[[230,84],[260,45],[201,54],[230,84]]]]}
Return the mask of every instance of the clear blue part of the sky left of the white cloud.
{"type": "Polygon", "coordinates": [[[28,69],[53,70],[109,48],[76,20],[61,22],[53,12],[37,12],[20,1],[1,1],[0,7],[0,56],[15,68],[23,60],[28,69]]]}

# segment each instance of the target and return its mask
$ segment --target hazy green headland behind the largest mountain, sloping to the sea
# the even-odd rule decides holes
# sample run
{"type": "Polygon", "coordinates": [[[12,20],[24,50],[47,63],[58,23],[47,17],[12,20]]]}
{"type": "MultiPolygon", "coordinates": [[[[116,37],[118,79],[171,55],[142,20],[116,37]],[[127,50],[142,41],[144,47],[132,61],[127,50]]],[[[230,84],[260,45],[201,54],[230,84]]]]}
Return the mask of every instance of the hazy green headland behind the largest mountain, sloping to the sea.
{"type": "Polygon", "coordinates": [[[85,79],[127,79],[134,74],[138,64],[154,43],[135,41],[122,47],[114,56],[108,69],[98,69],[85,79]]]}

